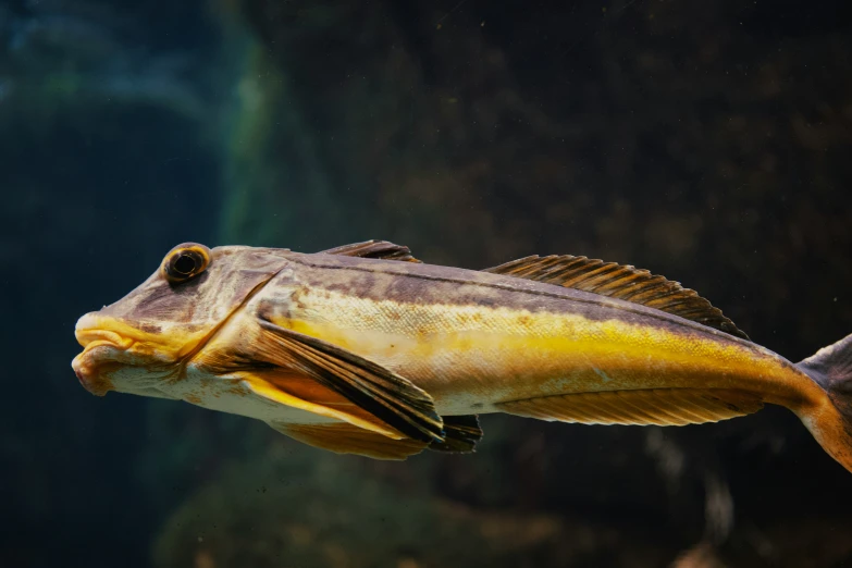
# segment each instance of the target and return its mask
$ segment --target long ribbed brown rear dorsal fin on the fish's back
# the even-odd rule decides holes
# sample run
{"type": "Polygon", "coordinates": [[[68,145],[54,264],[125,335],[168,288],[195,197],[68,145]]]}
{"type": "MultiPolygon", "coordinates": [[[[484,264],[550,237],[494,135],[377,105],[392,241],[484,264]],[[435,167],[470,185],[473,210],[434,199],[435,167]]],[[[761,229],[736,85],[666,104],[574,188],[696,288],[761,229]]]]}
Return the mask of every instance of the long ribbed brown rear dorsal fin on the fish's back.
{"type": "Polygon", "coordinates": [[[714,308],[694,289],[629,264],[571,255],[535,255],[483,272],[535,280],[641,304],[749,339],[721,310],[714,308]]]}

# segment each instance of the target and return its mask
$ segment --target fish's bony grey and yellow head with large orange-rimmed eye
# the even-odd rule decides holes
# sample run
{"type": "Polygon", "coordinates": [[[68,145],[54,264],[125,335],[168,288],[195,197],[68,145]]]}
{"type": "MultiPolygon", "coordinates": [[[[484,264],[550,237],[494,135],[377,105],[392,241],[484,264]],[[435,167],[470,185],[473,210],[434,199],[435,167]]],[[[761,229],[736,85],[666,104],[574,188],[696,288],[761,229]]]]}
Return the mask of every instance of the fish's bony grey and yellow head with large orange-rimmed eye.
{"type": "Polygon", "coordinates": [[[150,394],[178,379],[185,361],[286,267],[283,252],[196,243],[174,247],[136,289],[77,321],[83,353],[72,368],[81,384],[99,396],[150,394]]]}

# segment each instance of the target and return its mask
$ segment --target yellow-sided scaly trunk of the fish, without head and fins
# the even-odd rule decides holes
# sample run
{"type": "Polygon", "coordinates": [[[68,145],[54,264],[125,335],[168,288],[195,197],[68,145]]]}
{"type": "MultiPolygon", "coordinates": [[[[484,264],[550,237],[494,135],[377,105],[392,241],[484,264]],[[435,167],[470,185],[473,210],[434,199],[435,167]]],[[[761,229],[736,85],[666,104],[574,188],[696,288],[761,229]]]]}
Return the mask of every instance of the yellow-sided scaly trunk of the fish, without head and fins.
{"type": "MultiPolygon", "coordinates": [[[[429,264],[297,255],[245,307],[387,367],[441,415],[506,402],[642,388],[792,397],[806,379],[751,342],[623,300],[429,264]]],[[[812,381],[804,384],[811,385],[812,381]]]]}

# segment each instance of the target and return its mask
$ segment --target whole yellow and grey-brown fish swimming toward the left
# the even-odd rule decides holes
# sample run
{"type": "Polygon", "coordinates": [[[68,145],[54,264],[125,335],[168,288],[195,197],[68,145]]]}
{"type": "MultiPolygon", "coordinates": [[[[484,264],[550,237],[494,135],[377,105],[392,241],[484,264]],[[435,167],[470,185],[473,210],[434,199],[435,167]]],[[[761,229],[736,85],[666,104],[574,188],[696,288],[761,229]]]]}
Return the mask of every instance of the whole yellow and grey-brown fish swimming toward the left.
{"type": "Polygon", "coordinates": [[[386,240],[184,243],[75,335],[95,395],[184,400],[338,454],[472,453],[494,412],[684,425],[771,404],[852,471],[852,335],[793,363],[678,282],[583,256],[477,271],[386,240]]]}

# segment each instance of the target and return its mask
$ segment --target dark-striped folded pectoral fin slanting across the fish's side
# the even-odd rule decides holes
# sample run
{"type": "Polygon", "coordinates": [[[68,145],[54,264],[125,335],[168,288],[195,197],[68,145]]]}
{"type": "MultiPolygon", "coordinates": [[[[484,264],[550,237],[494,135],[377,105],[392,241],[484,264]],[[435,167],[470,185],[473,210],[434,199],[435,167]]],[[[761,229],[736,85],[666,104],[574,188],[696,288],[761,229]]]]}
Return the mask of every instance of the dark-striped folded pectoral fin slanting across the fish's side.
{"type": "Polygon", "coordinates": [[[393,437],[427,443],[444,440],[443,421],[432,397],[404,376],[322,339],[266,320],[260,324],[262,331],[255,347],[261,360],[330,388],[400,434],[393,437]]]}

